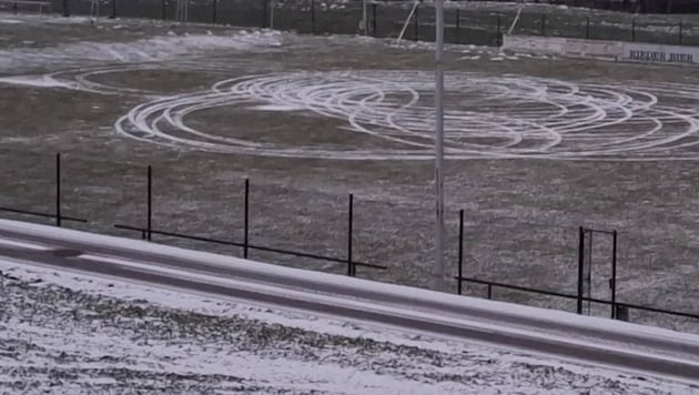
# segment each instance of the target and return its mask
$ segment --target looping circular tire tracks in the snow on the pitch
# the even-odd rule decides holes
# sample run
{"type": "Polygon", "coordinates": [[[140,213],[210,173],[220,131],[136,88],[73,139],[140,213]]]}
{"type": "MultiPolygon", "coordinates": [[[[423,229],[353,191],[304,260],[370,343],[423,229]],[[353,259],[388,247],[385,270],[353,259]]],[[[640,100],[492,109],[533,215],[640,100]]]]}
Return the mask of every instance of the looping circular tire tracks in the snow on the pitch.
{"type": "MultiPolygon", "coordinates": [[[[114,72],[121,72],[123,67],[114,72]]],[[[77,75],[81,83],[105,69],[77,75]]],[[[699,87],[566,82],[450,72],[445,146],[449,159],[695,160],[699,87]]],[[[100,87],[89,85],[91,89],[100,87]]],[[[113,87],[109,88],[112,92],[113,87]]],[[[342,160],[429,160],[434,151],[434,75],[418,71],[278,72],[223,80],[211,89],[154,98],[115,123],[150,143],[230,154],[342,160]],[[213,108],[306,111],[395,149],[327,149],[263,143],[188,125],[213,108]]],[[[344,130],[346,129],[346,130],[344,130]]]]}

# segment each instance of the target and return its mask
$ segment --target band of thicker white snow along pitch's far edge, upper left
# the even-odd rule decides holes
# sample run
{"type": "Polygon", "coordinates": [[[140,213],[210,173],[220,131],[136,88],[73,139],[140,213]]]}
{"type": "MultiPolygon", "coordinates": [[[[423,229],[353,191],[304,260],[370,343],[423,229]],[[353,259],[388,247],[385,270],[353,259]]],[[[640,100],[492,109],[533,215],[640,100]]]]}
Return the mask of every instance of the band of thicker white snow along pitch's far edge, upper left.
{"type": "MultiPolygon", "coordinates": [[[[136,19],[102,19],[93,22],[87,17],[41,18],[37,16],[10,16],[0,12],[0,42],[22,38],[13,44],[0,45],[0,73],[27,73],[34,69],[57,70],[83,68],[92,64],[143,63],[195,59],[231,54],[236,52],[270,52],[290,50],[290,47],[317,45],[313,37],[267,29],[240,29],[222,26],[169,24],[162,21],[136,19]],[[7,18],[6,18],[7,17],[7,18]],[[62,24],[69,29],[51,30],[51,24],[62,24]],[[27,26],[16,31],[16,26],[27,26]],[[48,40],[36,29],[47,31],[60,40],[48,40]],[[148,34],[148,36],[146,36],[148,34]],[[44,42],[45,41],[45,42],[44,42]],[[311,42],[308,42],[311,41],[311,42]]],[[[57,28],[58,29],[58,28],[57,28]]],[[[316,40],[320,38],[315,38],[316,40]]],[[[396,41],[367,37],[328,36],[327,40],[347,43],[378,43],[388,48],[405,50],[434,50],[433,42],[396,41]]],[[[447,45],[448,51],[478,59],[500,60],[504,57],[497,49],[476,45],[447,45]]],[[[470,59],[470,58],[468,58],[470,59]]],[[[517,57],[507,57],[517,60],[517,57]]],[[[8,81],[4,81],[8,82],[8,81]]]]}

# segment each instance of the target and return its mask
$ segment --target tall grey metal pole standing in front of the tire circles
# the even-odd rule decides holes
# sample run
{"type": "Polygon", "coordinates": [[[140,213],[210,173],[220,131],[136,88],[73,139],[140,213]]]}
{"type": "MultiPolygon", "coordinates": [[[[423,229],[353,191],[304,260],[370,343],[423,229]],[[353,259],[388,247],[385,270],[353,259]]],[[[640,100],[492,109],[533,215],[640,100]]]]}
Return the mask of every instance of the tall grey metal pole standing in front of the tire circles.
{"type": "Polygon", "coordinates": [[[435,189],[436,189],[436,221],[435,221],[435,286],[445,290],[444,265],[444,0],[435,1],[436,43],[435,52],[435,189]]]}

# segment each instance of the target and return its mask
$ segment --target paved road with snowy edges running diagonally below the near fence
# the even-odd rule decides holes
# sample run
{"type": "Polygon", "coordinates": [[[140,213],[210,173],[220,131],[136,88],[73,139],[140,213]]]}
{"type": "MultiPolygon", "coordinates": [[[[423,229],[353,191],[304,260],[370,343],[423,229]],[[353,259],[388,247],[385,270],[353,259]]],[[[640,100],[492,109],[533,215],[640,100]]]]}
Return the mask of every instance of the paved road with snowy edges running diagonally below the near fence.
{"type": "Polygon", "coordinates": [[[555,355],[696,383],[699,337],[565,312],[282,267],[154,243],[0,220],[0,256],[205,293],[421,336],[555,355]],[[64,254],[68,252],[68,255],[64,254]]]}

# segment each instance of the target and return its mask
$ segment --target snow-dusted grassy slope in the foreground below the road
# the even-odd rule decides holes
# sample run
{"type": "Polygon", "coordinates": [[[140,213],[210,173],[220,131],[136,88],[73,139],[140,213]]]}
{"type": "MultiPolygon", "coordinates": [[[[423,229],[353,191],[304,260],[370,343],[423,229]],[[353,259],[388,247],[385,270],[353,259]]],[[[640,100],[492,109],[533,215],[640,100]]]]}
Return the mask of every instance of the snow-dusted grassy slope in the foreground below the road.
{"type": "Polygon", "coordinates": [[[0,262],[0,392],[695,394],[366,323],[0,262]]]}

